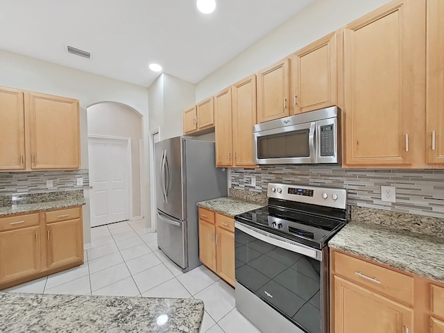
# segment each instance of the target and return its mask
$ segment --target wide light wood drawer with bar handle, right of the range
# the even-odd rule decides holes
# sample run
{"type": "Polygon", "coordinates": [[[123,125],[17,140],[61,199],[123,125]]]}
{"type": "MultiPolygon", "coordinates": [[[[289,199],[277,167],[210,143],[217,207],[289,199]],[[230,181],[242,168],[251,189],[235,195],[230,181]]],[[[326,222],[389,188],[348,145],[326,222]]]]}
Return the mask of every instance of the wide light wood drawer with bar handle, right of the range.
{"type": "Polygon", "coordinates": [[[334,252],[334,271],[396,300],[413,304],[413,278],[363,260],[334,252]]]}

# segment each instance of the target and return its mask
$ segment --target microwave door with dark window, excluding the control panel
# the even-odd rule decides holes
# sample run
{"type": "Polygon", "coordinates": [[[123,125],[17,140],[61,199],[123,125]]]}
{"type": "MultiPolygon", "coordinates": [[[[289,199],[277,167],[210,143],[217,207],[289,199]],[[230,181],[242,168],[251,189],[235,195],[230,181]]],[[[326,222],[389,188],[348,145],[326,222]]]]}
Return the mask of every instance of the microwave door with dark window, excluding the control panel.
{"type": "Polygon", "coordinates": [[[316,122],[253,133],[256,164],[314,164],[316,122]]]}

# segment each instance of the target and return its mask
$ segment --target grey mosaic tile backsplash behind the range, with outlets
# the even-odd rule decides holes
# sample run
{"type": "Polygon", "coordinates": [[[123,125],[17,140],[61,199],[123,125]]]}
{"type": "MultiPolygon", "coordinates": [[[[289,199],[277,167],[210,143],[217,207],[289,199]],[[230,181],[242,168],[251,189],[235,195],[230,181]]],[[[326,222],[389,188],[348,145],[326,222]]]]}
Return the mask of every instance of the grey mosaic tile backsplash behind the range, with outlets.
{"type": "Polygon", "coordinates": [[[350,205],[444,217],[444,171],[343,169],[339,166],[275,165],[231,169],[231,188],[266,193],[268,182],[348,189],[350,205]],[[256,186],[251,186],[251,177],[256,186]],[[394,186],[396,202],[381,200],[381,186],[394,186]]]}

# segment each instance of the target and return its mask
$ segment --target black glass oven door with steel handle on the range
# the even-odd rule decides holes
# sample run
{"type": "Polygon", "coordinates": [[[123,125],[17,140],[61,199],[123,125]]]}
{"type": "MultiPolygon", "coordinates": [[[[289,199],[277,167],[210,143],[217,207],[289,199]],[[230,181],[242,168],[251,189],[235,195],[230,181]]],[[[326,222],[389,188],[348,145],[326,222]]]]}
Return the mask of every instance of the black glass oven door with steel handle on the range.
{"type": "Polygon", "coordinates": [[[328,332],[327,248],[309,248],[238,221],[234,225],[236,282],[304,332],[328,332]]]}

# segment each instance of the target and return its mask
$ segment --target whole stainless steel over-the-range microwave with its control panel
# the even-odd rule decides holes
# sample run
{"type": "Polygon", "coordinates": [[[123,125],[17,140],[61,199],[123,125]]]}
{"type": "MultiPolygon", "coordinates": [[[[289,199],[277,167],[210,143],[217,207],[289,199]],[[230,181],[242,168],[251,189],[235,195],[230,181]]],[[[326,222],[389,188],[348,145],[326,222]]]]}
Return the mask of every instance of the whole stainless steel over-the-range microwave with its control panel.
{"type": "Polygon", "coordinates": [[[341,162],[341,109],[337,106],[254,126],[256,164],[341,162]]]}

